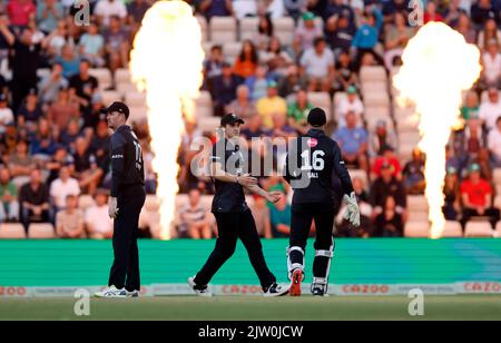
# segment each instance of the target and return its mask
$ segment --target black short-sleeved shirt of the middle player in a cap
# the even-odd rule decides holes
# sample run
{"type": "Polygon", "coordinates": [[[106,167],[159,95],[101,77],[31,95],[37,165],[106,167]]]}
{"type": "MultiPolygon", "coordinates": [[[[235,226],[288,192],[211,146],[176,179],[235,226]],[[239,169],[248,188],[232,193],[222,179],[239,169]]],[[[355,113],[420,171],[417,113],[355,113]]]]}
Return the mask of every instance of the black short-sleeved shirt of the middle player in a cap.
{"type": "MultiPolygon", "coordinates": [[[[212,163],[220,163],[224,171],[232,175],[244,174],[245,159],[239,146],[228,139],[218,140],[213,146],[212,163]]],[[[213,199],[213,213],[243,213],[248,209],[244,187],[235,183],[214,179],[216,195],[213,199]]]]}

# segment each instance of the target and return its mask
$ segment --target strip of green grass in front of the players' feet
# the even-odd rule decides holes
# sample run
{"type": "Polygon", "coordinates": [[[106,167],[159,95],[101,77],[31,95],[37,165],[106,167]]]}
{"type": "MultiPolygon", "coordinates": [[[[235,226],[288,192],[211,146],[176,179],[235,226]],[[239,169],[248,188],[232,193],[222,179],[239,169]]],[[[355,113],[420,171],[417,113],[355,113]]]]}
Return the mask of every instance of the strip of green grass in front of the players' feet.
{"type": "Polygon", "coordinates": [[[410,316],[406,296],[143,297],[90,301],[90,316],[76,316],[72,298],[3,298],[0,320],[501,320],[501,296],[456,295],[424,300],[424,316],[410,316]]]}

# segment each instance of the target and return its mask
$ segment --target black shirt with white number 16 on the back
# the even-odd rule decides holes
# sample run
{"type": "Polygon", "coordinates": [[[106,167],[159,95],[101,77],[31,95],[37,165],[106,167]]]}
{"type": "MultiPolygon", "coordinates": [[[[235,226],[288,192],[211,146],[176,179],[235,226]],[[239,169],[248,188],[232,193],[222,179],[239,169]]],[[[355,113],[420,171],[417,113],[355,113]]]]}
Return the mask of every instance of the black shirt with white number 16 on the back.
{"type": "Polygon", "coordinates": [[[340,178],[344,194],[353,192],[340,146],[323,130],[311,129],[292,143],[284,173],[288,183],[298,179],[308,182],[306,187],[291,183],[294,188],[293,207],[312,203],[334,204],[333,174],[340,178]]]}

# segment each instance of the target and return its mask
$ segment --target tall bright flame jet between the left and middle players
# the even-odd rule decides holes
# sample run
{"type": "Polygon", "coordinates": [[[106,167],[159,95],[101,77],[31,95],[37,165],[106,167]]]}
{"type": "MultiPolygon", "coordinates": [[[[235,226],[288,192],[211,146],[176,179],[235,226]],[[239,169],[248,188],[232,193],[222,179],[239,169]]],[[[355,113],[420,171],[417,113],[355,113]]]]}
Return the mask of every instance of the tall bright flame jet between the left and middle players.
{"type": "Polygon", "coordinates": [[[153,167],[158,175],[161,238],[168,239],[178,193],[177,155],[183,115],[194,120],[194,100],[203,81],[202,31],[184,1],[158,1],[145,14],[130,53],[130,71],[146,90],[153,167]]]}

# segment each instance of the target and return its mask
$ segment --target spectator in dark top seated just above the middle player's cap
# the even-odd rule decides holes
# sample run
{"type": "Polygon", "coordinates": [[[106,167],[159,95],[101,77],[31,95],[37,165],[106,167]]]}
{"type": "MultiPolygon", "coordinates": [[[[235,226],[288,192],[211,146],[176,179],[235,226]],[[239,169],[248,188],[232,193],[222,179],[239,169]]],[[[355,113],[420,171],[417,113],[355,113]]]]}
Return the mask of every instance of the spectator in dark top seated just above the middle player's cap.
{"type": "Polygon", "coordinates": [[[242,78],[233,72],[232,66],[223,63],[223,74],[210,80],[209,89],[214,102],[214,115],[222,117],[225,107],[236,99],[236,89],[243,84],[242,78]]]}

